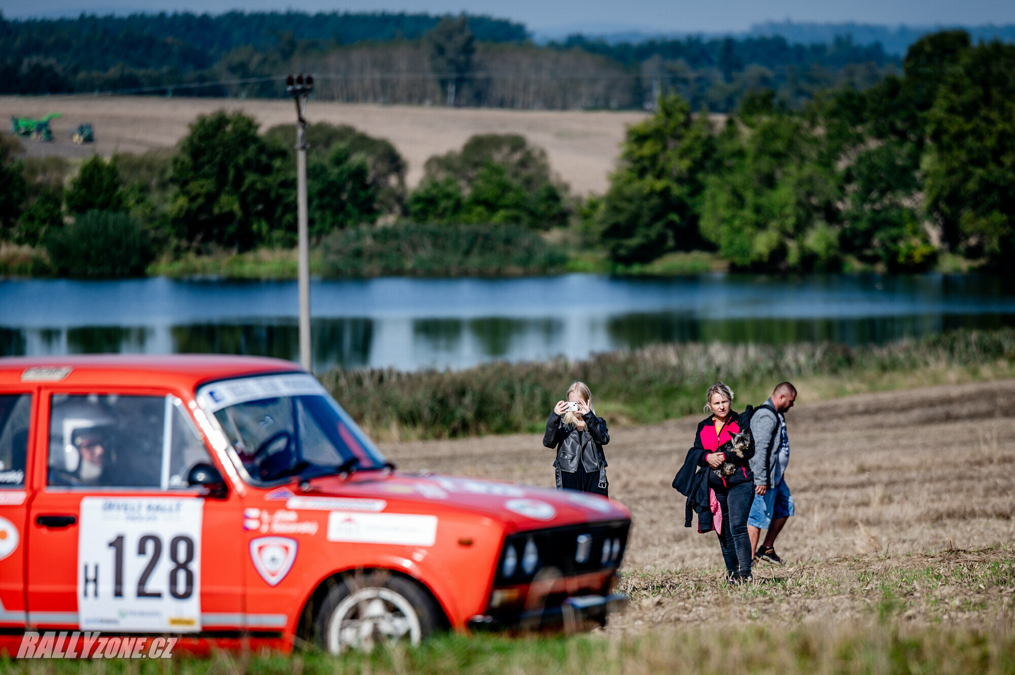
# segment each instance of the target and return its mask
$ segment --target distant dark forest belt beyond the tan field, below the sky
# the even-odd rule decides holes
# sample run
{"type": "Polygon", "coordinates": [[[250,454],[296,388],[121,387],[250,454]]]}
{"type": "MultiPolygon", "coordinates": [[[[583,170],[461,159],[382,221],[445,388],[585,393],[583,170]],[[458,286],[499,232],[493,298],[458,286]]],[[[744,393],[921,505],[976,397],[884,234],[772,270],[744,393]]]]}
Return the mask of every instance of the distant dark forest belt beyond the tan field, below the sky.
{"type": "Polygon", "coordinates": [[[735,109],[772,88],[795,105],[829,86],[866,88],[898,66],[849,38],[686,38],[540,47],[486,16],[300,12],[0,17],[0,93],[127,92],[283,96],[281,76],[314,72],[320,99],[520,108],[639,108],[677,92],[735,109]]]}

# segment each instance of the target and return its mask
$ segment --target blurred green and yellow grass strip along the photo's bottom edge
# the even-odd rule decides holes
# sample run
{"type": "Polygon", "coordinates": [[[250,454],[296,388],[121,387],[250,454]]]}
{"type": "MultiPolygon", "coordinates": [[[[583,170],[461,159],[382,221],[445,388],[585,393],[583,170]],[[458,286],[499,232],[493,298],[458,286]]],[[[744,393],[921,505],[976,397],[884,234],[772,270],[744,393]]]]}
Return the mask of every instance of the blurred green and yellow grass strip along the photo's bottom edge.
{"type": "Polygon", "coordinates": [[[879,625],[805,624],[795,628],[749,625],[694,628],[639,635],[463,636],[444,635],[417,648],[379,648],[370,655],[335,658],[318,653],[293,657],[219,655],[170,662],[3,662],[0,670],[23,675],[649,675],[688,673],[968,673],[1015,672],[1010,631],[903,629],[879,625]]]}

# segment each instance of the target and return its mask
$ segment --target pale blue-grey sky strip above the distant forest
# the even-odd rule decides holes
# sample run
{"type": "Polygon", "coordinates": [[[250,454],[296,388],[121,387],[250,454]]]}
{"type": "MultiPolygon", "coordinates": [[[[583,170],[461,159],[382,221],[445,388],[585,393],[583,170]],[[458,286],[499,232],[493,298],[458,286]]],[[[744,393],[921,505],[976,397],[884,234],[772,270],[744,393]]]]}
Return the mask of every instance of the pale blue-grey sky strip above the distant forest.
{"type": "Polygon", "coordinates": [[[0,0],[8,18],[134,11],[467,11],[525,23],[530,30],[738,32],[754,23],[982,25],[1015,23],[1013,0],[0,0]]]}

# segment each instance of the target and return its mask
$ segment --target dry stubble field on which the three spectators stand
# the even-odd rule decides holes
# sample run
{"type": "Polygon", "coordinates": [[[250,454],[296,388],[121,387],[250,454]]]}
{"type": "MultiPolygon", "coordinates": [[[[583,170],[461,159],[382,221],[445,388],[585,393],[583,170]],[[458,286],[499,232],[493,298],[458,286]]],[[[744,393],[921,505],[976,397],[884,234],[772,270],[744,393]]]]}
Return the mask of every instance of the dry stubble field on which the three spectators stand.
{"type": "MultiPolygon", "coordinates": [[[[610,496],[633,522],[621,584],[632,607],[612,628],[765,616],[1015,626],[1015,380],[801,400],[787,416],[787,565],[758,564],[747,588],[722,582],[716,535],[684,527],[670,486],[697,421],[611,430],[610,496]]],[[[400,469],[552,486],[541,440],[382,449],[400,469]]]]}

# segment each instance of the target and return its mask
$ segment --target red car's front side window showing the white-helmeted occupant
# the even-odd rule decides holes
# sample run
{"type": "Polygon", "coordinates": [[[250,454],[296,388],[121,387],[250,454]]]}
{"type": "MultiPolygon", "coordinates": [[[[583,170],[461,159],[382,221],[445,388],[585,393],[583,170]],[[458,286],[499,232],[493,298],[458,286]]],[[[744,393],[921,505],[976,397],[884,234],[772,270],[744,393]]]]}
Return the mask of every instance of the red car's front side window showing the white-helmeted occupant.
{"type": "Polygon", "coordinates": [[[187,473],[209,461],[175,396],[54,394],[48,484],[187,488],[187,473]]]}

